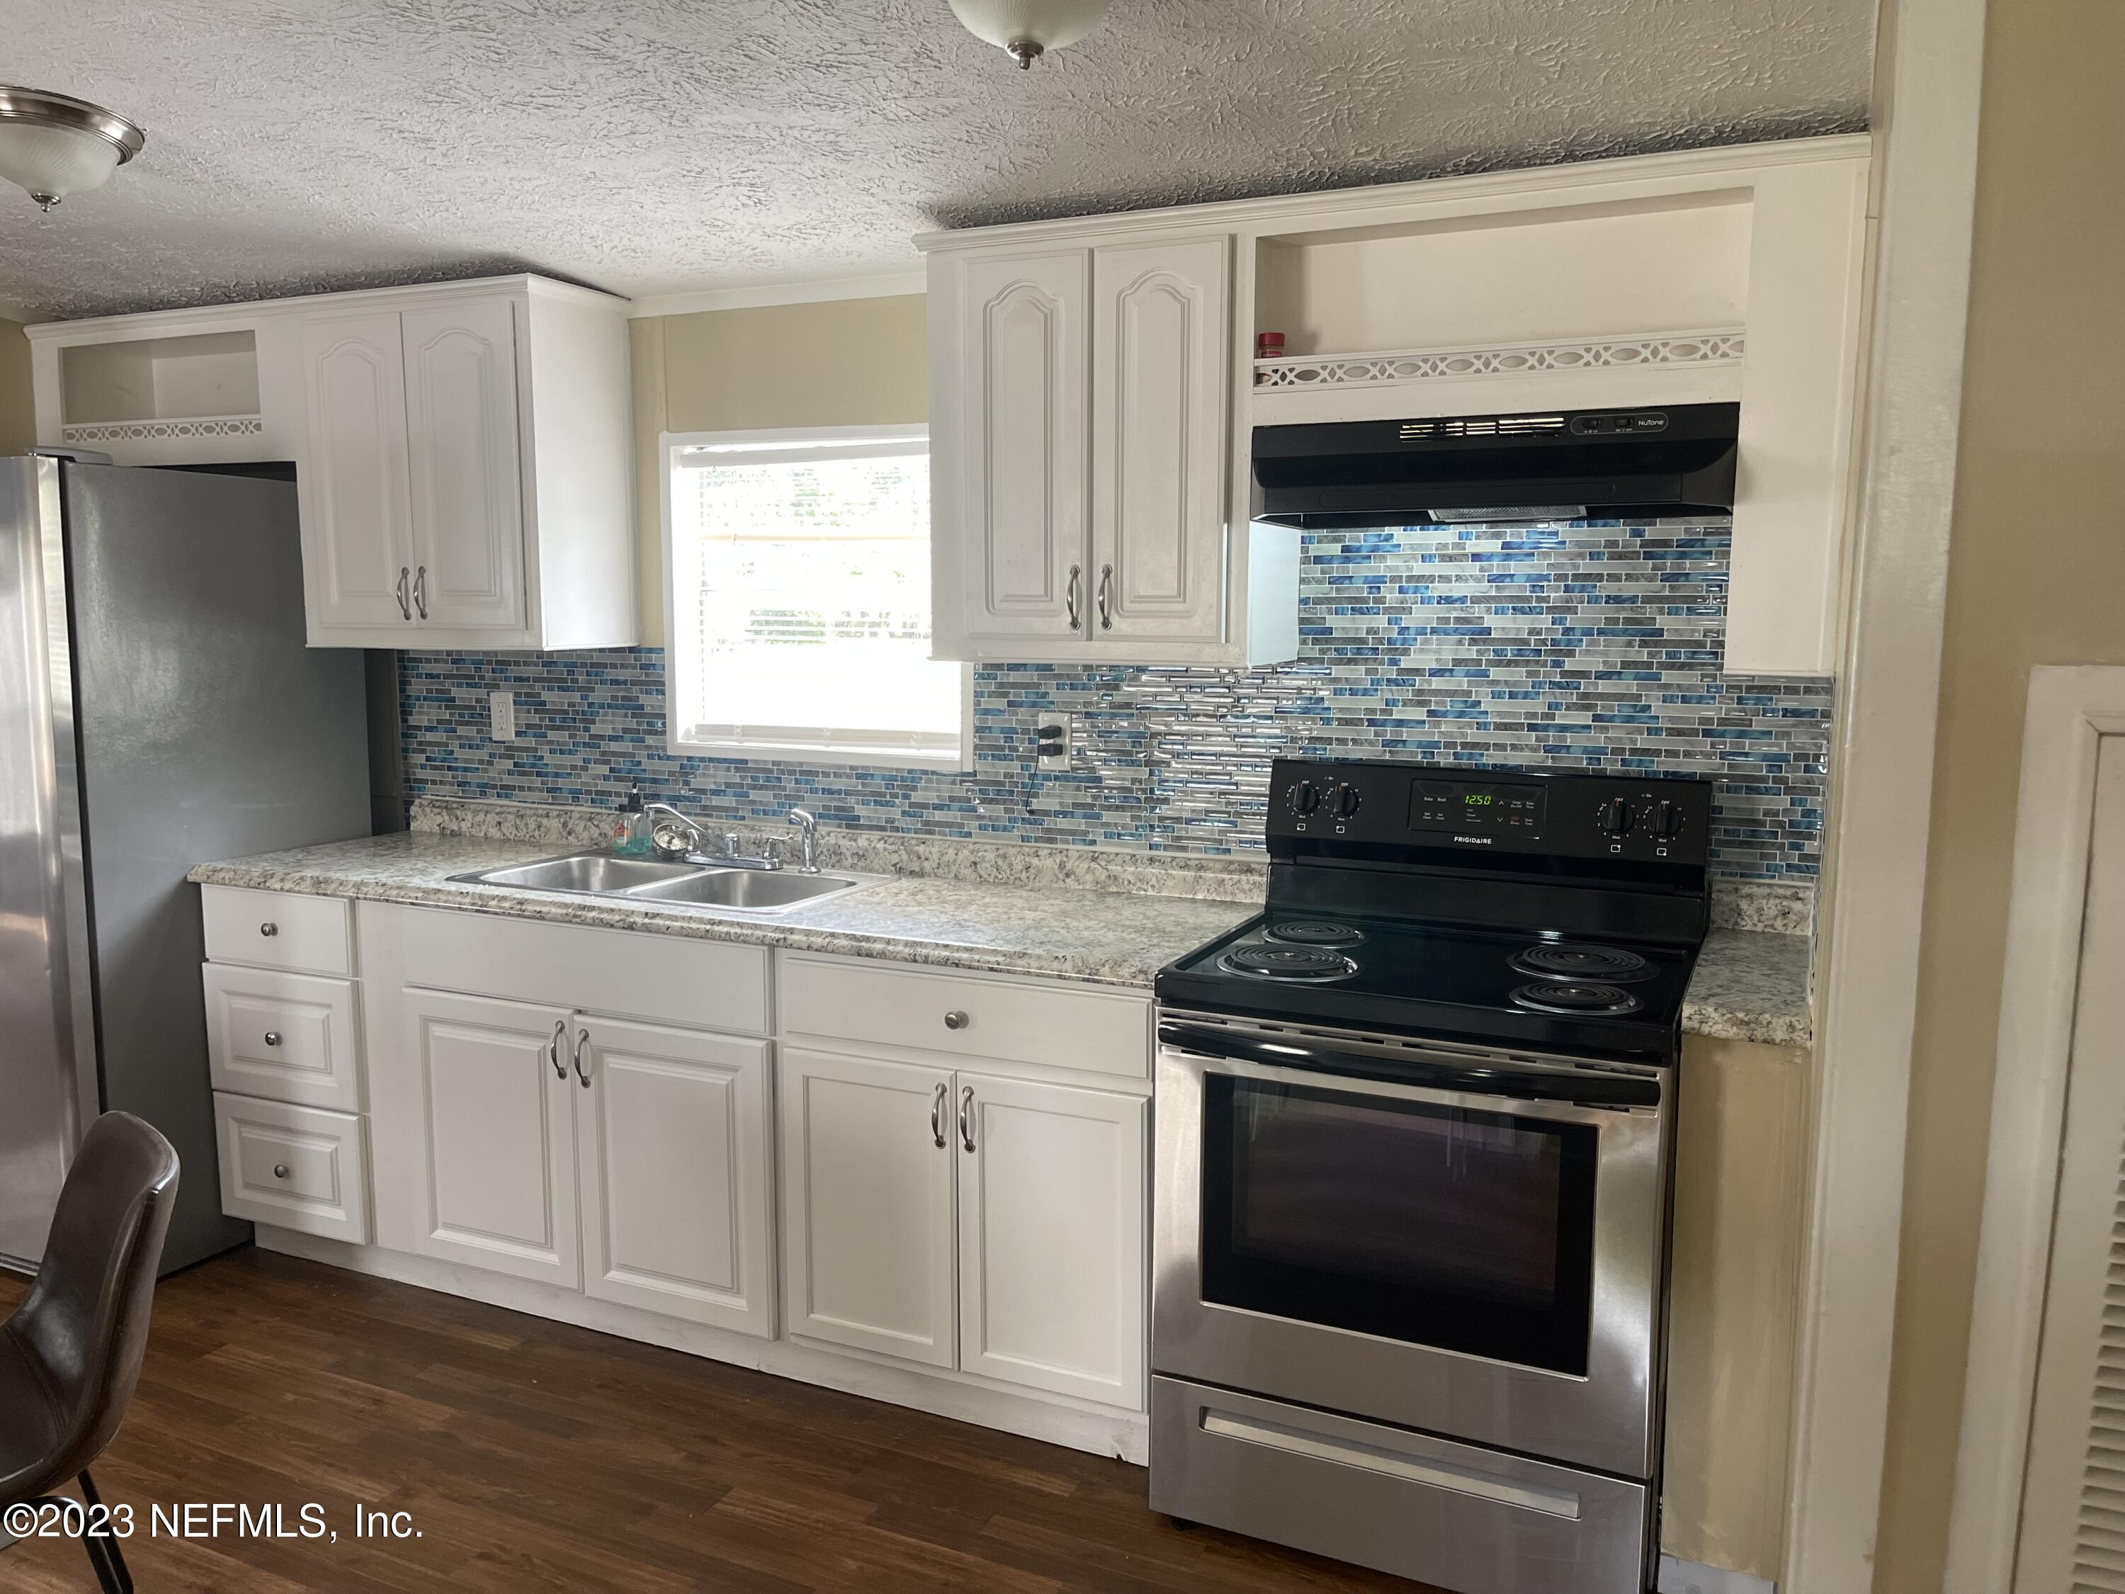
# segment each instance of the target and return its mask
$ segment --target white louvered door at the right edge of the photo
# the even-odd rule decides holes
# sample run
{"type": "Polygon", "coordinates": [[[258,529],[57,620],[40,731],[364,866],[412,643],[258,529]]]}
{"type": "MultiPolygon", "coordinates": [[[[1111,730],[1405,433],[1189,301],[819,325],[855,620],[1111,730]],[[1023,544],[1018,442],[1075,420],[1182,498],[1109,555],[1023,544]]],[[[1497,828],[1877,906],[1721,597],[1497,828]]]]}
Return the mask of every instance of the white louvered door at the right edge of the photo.
{"type": "Polygon", "coordinates": [[[2125,737],[2091,840],[2017,1594],[2125,1594],[2125,737]]]}

